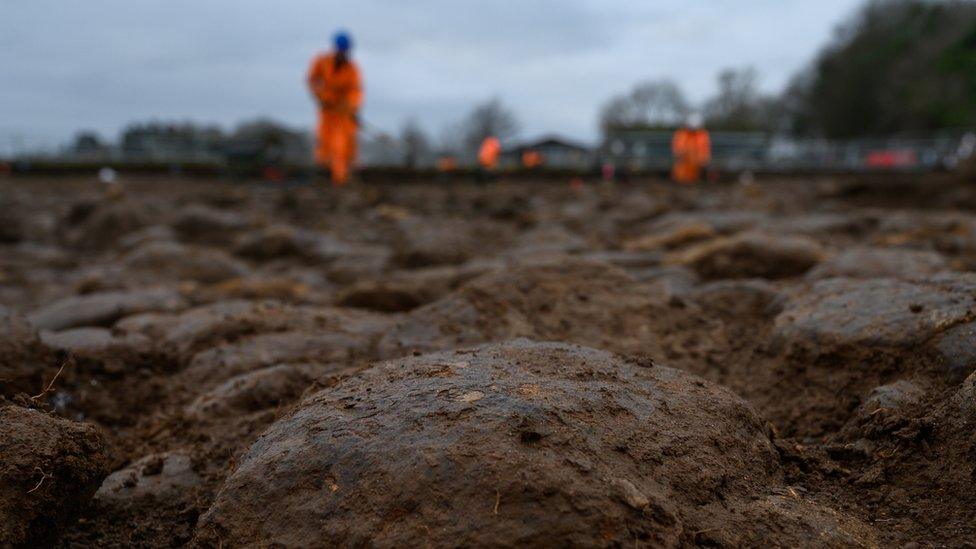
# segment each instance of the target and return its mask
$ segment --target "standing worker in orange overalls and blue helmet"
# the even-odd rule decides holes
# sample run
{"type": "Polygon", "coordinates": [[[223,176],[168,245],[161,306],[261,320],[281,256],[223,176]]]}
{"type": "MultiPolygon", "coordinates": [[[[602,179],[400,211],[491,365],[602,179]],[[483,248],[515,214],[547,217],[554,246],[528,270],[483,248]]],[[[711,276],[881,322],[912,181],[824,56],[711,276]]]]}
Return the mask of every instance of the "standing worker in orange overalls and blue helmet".
{"type": "Polygon", "coordinates": [[[319,54],[308,69],[308,87],[319,105],[315,160],[331,170],[332,184],[345,185],[356,161],[356,130],[363,86],[359,68],[350,58],[352,38],[338,32],[335,48],[319,54]]]}

